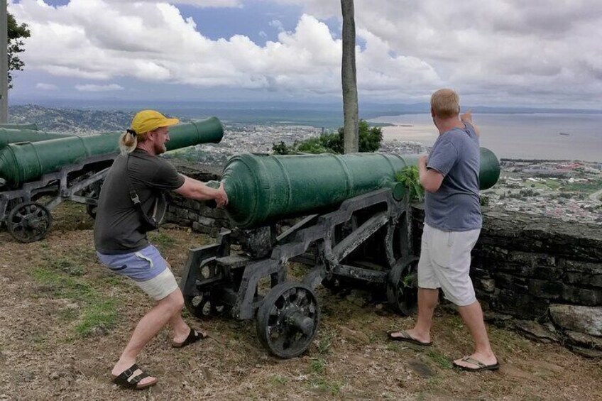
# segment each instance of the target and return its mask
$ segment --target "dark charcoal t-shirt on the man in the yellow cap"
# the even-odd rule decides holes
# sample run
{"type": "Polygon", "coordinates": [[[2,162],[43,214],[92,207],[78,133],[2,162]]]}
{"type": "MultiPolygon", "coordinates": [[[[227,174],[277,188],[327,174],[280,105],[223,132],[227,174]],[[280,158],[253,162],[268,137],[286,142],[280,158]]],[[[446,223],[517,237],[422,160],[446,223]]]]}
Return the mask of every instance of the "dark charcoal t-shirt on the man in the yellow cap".
{"type": "MultiPolygon", "coordinates": [[[[126,156],[115,159],[106,175],[94,222],[94,245],[100,253],[130,253],[148,246],[142,216],[129,195],[126,174],[126,156]]],[[[167,160],[136,149],[129,156],[128,177],[138,193],[144,212],[153,215],[156,199],[163,191],[177,189],[184,177],[167,160]]]]}

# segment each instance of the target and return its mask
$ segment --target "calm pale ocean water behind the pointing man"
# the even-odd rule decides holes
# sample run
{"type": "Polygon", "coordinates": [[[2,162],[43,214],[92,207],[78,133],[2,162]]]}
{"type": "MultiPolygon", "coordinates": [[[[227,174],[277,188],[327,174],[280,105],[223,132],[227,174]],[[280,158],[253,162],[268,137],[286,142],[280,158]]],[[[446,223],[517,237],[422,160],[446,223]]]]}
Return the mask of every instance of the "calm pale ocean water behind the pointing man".
{"type": "MultiPolygon", "coordinates": [[[[585,160],[602,162],[602,114],[473,114],[481,130],[481,146],[498,158],[585,160]]],[[[437,139],[430,114],[404,114],[370,119],[393,123],[383,127],[385,141],[437,139]]]]}

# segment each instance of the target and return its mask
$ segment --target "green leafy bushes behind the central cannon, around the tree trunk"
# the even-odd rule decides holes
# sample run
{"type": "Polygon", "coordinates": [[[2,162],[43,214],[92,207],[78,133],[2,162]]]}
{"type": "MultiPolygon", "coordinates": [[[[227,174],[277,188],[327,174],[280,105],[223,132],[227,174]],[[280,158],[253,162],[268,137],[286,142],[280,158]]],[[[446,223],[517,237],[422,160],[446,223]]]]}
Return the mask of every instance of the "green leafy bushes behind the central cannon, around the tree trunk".
{"type": "MultiPolygon", "coordinates": [[[[292,145],[284,142],[274,143],[273,153],[276,155],[293,155],[295,153],[343,153],[344,128],[336,132],[322,133],[320,136],[305,141],[295,141],[292,145]]],[[[359,121],[359,151],[375,152],[381,148],[383,132],[381,127],[371,127],[367,121],[359,121]]]]}

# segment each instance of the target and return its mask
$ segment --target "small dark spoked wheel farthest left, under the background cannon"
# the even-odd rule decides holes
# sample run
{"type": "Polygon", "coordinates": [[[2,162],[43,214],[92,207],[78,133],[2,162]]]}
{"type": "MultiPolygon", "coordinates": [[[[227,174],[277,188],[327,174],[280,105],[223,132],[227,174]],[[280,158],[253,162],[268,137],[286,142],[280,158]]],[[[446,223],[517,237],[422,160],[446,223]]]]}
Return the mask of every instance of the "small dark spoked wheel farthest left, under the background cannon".
{"type": "Polygon", "coordinates": [[[27,202],[14,207],[6,220],[11,236],[20,242],[34,242],[44,238],[53,218],[42,204],[27,202]]]}

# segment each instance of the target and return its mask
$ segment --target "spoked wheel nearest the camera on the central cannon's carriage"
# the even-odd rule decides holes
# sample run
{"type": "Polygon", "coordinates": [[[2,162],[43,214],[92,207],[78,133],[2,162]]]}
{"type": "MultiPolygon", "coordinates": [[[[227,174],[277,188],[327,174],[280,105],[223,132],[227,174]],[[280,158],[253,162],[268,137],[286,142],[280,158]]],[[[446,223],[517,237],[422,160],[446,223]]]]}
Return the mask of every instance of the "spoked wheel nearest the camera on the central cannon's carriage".
{"type": "Polygon", "coordinates": [[[280,358],[294,358],[305,352],[317,334],[318,324],[316,295],[300,282],[273,287],[257,312],[259,340],[280,358]]]}

